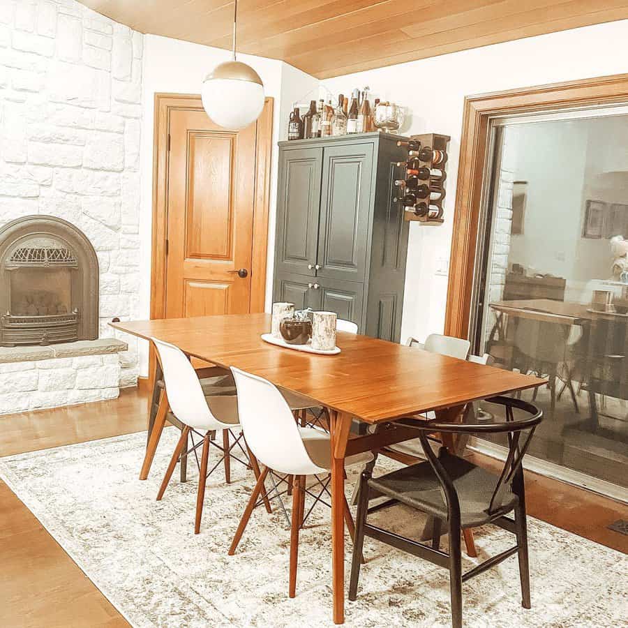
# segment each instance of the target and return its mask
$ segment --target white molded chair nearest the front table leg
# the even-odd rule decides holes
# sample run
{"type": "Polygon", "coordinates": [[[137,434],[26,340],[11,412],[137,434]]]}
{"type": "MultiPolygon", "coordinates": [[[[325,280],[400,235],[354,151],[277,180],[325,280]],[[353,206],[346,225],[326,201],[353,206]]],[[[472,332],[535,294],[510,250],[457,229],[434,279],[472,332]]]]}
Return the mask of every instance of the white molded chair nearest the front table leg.
{"type": "MultiPolygon", "coordinates": [[[[297,590],[299,529],[308,516],[304,517],[305,493],[313,495],[316,501],[319,501],[327,490],[329,478],[324,484],[324,481],[317,476],[329,475],[329,470],[331,470],[329,434],[298,426],[292,417],[290,406],[271,382],[257,375],[240,371],[238,368],[232,367],[231,370],[236,382],[238,412],[246,442],[264,468],[248,500],[229,549],[229,555],[233,555],[236,551],[251,513],[257,505],[257,498],[264,489],[264,480],[269,472],[285,474],[286,477],[293,476],[289,593],[290,597],[294,597],[297,590]],[[320,495],[317,496],[306,488],[308,475],[315,476],[317,482],[323,486],[320,495]]],[[[367,452],[348,456],[345,458],[345,464],[347,466],[363,464],[372,459],[371,452],[367,452]]],[[[310,512],[311,509],[308,514],[310,512]]],[[[345,500],[345,522],[353,537],[354,525],[347,500],[345,500]]]]}

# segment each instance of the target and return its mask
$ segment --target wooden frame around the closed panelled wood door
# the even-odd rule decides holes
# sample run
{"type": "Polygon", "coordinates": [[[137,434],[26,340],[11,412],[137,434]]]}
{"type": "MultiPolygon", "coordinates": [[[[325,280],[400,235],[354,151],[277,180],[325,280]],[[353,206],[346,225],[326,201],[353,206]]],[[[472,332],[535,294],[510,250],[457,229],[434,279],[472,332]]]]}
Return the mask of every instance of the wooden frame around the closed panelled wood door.
{"type": "MultiPolygon", "coordinates": [[[[151,319],[165,317],[167,233],[168,125],[172,110],[203,110],[197,94],[155,94],[153,142],[153,232],[151,248],[151,319]]],[[[255,137],[255,196],[251,251],[251,313],[263,312],[266,299],[266,260],[271,186],[274,99],[267,96],[257,119],[255,137]]]]}

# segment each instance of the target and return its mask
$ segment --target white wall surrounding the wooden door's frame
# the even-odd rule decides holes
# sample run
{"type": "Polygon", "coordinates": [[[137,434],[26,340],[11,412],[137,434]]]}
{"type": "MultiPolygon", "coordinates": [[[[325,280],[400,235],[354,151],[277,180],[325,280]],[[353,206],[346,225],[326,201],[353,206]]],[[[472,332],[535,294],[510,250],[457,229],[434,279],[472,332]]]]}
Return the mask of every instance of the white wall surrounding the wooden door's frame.
{"type": "MultiPolygon", "coordinates": [[[[140,200],[140,237],[142,241],[142,264],[140,275],[140,317],[149,317],[150,309],[150,272],[151,272],[151,220],[152,220],[152,179],[153,179],[153,137],[154,137],[154,96],[158,92],[175,94],[200,94],[204,77],[211,68],[230,59],[230,52],[189,43],[186,41],[160,37],[144,36],[143,63],[143,103],[142,103],[142,150],[141,174],[142,191],[140,200]]],[[[273,120],[273,157],[271,172],[271,198],[269,220],[269,248],[267,273],[267,306],[271,299],[271,280],[274,260],[275,202],[277,195],[277,142],[287,135],[287,115],[294,100],[298,100],[308,91],[317,89],[318,81],[313,77],[288,66],[283,61],[238,54],[239,61],[244,61],[255,68],[264,82],[267,96],[274,98],[273,120]]],[[[146,374],[146,343],[140,346],[140,370],[146,374]]]]}

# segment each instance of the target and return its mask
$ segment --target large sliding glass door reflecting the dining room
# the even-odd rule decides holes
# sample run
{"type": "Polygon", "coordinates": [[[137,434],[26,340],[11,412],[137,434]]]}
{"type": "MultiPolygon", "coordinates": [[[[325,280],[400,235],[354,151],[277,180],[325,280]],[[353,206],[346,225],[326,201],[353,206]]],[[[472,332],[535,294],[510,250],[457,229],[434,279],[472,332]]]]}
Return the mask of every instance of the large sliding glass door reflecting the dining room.
{"type": "Polygon", "coordinates": [[[489,163],[474,352],[548,379],[532,456],[626,488],[628,109],[495,120],[489,163]]]}

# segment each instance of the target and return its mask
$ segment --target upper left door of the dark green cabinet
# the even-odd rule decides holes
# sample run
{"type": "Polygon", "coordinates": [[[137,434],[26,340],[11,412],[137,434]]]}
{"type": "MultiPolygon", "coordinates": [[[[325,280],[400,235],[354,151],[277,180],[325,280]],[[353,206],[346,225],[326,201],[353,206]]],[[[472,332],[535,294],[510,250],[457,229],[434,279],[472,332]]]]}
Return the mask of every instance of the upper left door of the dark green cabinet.
{"type": "Polygon", "coordinates": [[[320,210],[322,149],[281,153],[277,199],[278,271],[314,276],[320,210]]]}

